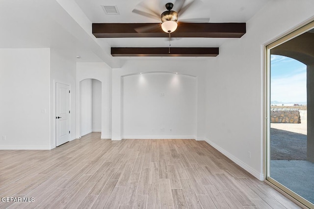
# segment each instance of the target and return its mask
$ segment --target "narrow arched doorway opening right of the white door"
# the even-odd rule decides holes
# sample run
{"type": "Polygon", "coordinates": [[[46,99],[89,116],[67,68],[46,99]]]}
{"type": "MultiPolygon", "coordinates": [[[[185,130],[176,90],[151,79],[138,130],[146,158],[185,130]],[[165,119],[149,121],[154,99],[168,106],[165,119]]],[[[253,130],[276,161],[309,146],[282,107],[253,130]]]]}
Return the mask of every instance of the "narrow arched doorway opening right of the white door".
{"type": "Polygon", "coordinates": [[[80,81],[79,103],[80,136],[91,132],[101,132],[102,82],[90,78],[80,81]]]}

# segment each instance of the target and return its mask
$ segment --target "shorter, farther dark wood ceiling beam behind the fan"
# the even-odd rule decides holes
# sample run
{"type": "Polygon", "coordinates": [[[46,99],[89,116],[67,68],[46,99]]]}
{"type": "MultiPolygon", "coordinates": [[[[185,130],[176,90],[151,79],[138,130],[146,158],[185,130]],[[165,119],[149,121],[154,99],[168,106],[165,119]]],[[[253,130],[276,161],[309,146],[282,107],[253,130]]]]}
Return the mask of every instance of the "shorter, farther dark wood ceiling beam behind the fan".
{"type": "Polygon", "coordinates": [[[218,47],[111,47],[114,57],[216,57],[218,47]]]}

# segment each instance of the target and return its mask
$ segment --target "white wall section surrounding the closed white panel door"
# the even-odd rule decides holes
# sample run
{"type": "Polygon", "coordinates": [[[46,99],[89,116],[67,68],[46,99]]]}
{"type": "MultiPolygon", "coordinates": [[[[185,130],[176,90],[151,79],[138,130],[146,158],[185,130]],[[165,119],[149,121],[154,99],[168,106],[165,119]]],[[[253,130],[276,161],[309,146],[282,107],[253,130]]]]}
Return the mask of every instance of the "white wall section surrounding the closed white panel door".
{"type": "MultiPolygon", "coordinates": [[[[69,140],[76,139],[76,57],[65,53],[62,48],[50,50],[50,108],[51,108],[51,147],[55,147],[55,83],[67,84],[71,91],[71,114],[69,140]]],[[[79,110],[79,108],[78,108],[79,110]]]]}

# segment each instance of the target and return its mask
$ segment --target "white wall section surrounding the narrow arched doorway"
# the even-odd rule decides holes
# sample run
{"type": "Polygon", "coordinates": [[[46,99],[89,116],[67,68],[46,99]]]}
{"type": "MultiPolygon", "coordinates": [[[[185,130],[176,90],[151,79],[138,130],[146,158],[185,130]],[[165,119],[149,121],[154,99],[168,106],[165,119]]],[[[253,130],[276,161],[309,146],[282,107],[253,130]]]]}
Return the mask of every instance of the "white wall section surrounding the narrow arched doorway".
{"type": "MultiPolygon", "coordinates": [[[[79,109],[79,82],[84,79],[96,79],[101,82],[101,138],[111,139],[111,68],[105,63],[77,63],[77,98],[79,109]]],[[[96,102],[95,102],[96,103],[96,102]]],[[[79,112],[76,117],[76,136],[80,137],[79,112]]],[[[97,127],[97,126],[96,126],[97,127]]]]}

